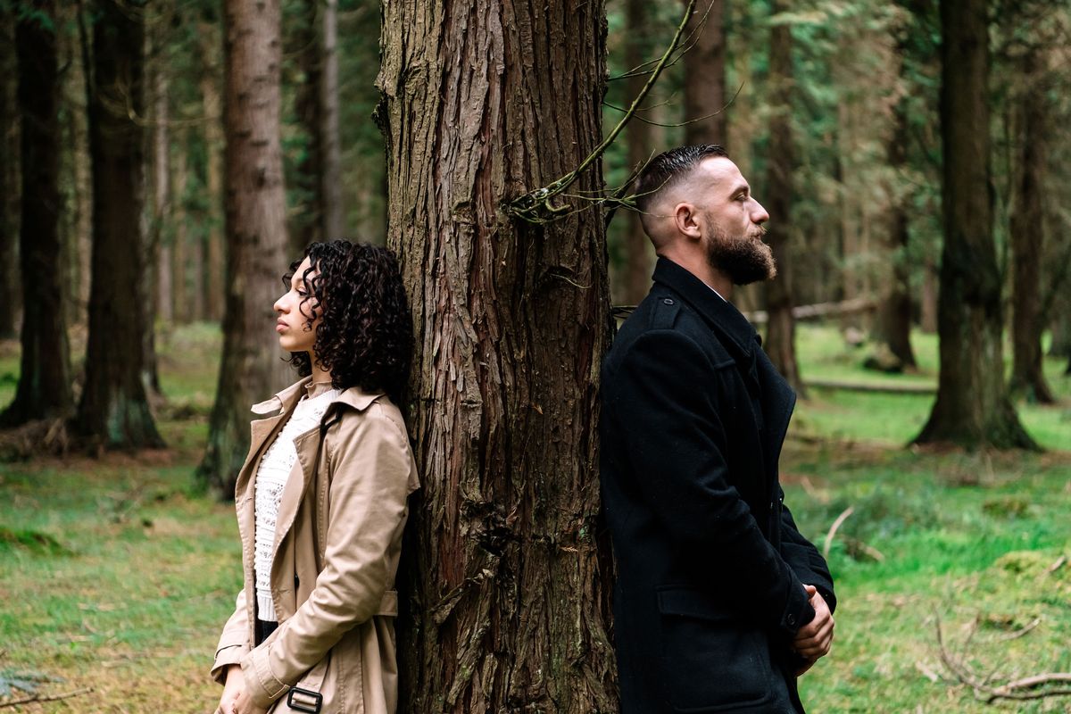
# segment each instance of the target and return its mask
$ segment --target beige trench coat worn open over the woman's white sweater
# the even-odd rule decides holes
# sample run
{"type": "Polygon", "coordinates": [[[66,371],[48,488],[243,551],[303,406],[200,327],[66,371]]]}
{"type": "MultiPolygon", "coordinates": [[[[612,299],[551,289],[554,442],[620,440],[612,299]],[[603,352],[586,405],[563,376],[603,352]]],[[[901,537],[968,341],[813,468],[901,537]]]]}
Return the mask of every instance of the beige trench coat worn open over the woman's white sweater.
{"type": "Polygon", "coordinates": [[[322,697],[322,714],[393,713],[394,575],[406,499],[419,482],[402,414],[383,394],[346,390],[320,427],[295,439],[298,460],[283,489],[271,566],[280,627],[253,648],[255,476],[308,381],[253,407],[272,415],[253,422],[238,476],[245,587],[220,637],[212,677],[223,683],[227,667],[240,664],[253,701],[272,714],[310,711],[300,705],[314,704],[315,696],[304,692],[322,697]]]}

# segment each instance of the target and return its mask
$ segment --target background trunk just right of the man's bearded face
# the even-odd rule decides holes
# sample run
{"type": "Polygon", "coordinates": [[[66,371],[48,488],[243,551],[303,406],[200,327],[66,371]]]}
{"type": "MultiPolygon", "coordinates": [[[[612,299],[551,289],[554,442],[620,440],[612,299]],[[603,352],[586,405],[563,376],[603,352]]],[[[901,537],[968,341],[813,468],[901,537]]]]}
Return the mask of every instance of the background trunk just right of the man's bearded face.
{"type": "MultiPolygon", "coordinates": [[[[774,1],[774,13],[787,10],[787,0],[774,1]]],[[[771,229],[768,242],[778,261],[778,277],[766,284],[766,309],[769,314],[764,347],[778,371],[788,380],[800,396],[804,396],[796,361],[796,319],[793,317],[793,264],[789,234],[793,226],[793,171],[796,148],[793,145],[793,35],[788,25],[781,22],[770,29],[770,150],[767,158],[765,198],[770,212],[771,229]]]]}

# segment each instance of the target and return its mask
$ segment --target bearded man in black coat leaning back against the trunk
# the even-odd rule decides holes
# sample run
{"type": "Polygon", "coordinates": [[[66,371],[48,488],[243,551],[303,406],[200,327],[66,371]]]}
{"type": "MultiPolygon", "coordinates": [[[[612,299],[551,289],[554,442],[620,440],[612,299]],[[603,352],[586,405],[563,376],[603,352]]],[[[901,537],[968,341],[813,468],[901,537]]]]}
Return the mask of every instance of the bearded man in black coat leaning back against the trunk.
{"type": "Polygon", "coordinates": [[[778,482],[796,395],[727,302],[776,273],[769,215],[718,146],[657,156],[637,195],[654,286],[602,373],[621,711],[803,712],[833,582],[778,482]]]}

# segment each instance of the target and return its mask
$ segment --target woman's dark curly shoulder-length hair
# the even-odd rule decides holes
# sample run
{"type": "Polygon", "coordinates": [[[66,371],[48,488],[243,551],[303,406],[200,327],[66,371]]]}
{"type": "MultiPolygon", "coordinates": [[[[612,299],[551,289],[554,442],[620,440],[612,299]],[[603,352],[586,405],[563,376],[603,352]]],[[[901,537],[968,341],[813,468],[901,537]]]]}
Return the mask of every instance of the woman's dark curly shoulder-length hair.
{"type": "MultiPolygon", "coordinates": [[[[308,294],[301,307],[312,316],[305,328],[311,330],[313,321],[322,318],[313,344],[317,365],[331,373],[337,389],[382,390],[399,401],[409,373],[412,326],[394,254],[349,241],[312,243],[283,276],[287,289],[305,258],[311,268],[301,277],[308,294]]],[[[307,352],[291,352],[289,362],[302,377],[312,374],[307,352]]]]}

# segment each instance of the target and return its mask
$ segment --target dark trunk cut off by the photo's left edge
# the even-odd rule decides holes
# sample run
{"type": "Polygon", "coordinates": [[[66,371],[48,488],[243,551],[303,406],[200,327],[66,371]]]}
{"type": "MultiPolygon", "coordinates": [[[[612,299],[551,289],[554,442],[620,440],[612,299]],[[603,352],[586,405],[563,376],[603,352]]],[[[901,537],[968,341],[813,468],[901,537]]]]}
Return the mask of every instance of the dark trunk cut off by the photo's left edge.
{"type": "Polygon", "coordinates": [[[18,58],[15,15],[0,6],[0,339],[18,334],[18,58]]]}

